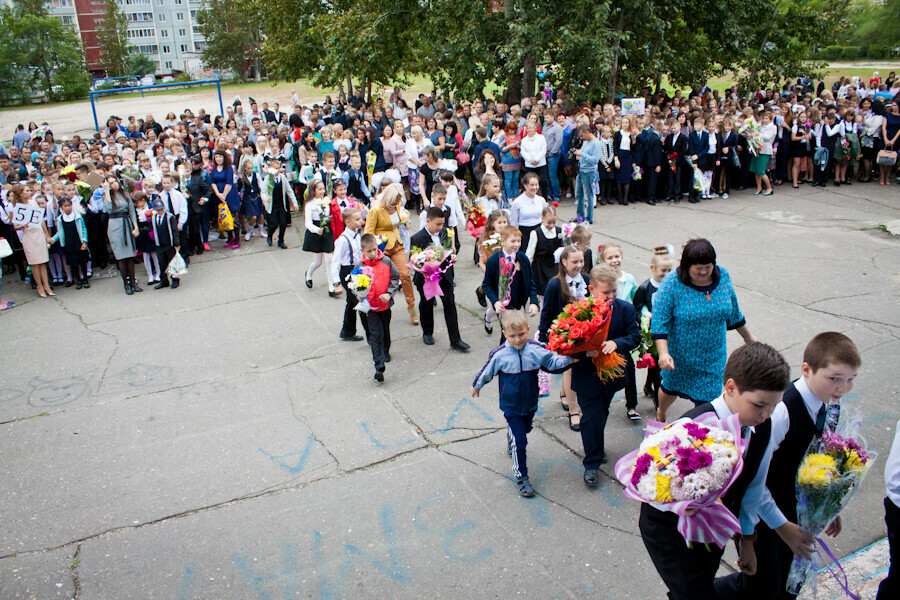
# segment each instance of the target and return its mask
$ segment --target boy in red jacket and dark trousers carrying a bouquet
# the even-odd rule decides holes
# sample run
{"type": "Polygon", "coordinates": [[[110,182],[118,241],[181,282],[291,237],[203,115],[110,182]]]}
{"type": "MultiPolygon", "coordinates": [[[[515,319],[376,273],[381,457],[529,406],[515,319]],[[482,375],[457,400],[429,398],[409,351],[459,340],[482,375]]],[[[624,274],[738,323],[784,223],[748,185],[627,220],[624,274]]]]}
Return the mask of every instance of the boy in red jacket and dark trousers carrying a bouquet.
{"type": "Polygon", "coordinates": [[[366,233],[359,241],[362,264],[372,268],[372,284],[366,298],[369,300],[369,346],[375,362],[375,381],[384,381],[384,365],[391,362],[391,306],[394,294],[400,288],[400,272],[390,258],[378,249],[378,240],[366,233]]]}

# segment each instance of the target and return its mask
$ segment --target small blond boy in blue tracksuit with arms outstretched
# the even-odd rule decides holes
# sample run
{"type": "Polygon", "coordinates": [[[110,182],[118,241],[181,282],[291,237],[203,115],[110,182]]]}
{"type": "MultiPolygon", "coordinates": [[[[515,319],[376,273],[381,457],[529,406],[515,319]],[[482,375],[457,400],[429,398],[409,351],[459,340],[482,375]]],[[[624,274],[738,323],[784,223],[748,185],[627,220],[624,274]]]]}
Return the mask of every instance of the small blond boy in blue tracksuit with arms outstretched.
{"type": "Polygon", "coordinates": [[[527,434],[531,431],[538,402],[538,371],[543,368],[551,373],[562,373],[572,366],[568,356],[557,356],[538,342],[528,339],[528,320],[520,310],[507,311],[503,315],[503,333],[506,343],[501,344],[488,358],[475,383],[472,397],[478,397],[481,388],[499,375],[500,410],[506,418],[506,437],[509,455],[513,459],[513,473],[519,494],[534,496],[534,488],[528,480],[525,458],[527,434]]]}

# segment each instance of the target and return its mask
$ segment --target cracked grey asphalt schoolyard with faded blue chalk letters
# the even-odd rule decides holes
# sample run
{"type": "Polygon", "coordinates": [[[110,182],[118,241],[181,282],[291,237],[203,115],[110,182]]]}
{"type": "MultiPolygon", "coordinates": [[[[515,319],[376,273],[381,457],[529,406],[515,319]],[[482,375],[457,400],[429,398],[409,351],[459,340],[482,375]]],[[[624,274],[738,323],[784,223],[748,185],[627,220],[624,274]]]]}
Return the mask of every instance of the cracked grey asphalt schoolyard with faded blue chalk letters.
{"type": "MultiPolygon", "coordinates": [[[[877,227],[898,218],[897,190],[602,207],[592,243],[620,242],[643,281],[654,246],[710,238],[751,329],[795,376],[810,337],[849,335],[864,361],[853,400],[886,457],[900,242],[877,227]]],[[[613,461],[590,491],[554,379],[529,437],[538,495],[516,494],[496,387],[468,397],[499,335],[481,325],[471,238],[456,301],[472,350],[449,348],[440,309],[427,347],[398,308],[376,386],[368,347],[338,340],[343,301],[321,272],[304,286],[295,224],[287,251],[213,242],[177,291],[125,296],[110,268],[90,290],[39,299],[5,278],[17,307],[0,314],[0,598],[664,597],[638,506],[612,476],[642,436],[621,394],[613,461]]],[[[837,556],[885,535],[882,465],[845,513],[837,556]]],[[[734,560],[729,548],[721,572],[734,560]]]]}

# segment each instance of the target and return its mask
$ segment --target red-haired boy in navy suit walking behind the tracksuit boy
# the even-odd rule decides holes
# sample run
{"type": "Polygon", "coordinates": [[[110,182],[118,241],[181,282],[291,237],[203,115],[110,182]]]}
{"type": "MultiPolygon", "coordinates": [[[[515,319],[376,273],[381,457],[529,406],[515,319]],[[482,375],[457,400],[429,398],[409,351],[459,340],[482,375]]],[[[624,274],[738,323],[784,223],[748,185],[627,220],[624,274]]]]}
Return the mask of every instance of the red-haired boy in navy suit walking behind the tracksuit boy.
{"type": "MultiPolygon", "coordinates": [[[[494,311],[503,322],[506,310],[524,309],[528,307],[528,316],[536,317],[538,313],[537,287],[528,256],[519,249],[522,247],[522,232],[517,227],[504,227],[500,230],[500,252],[494,252],[484,265],[484,280],[481,289],[494,307],[494,311]],[[501,261],[505,269],[513,271],[507,289],[500,289],[501,261]],[[501,298],[501,294],[503,297],[501,298]]],[[[500,335],[500,345],[506,336],[500,335]]]]}

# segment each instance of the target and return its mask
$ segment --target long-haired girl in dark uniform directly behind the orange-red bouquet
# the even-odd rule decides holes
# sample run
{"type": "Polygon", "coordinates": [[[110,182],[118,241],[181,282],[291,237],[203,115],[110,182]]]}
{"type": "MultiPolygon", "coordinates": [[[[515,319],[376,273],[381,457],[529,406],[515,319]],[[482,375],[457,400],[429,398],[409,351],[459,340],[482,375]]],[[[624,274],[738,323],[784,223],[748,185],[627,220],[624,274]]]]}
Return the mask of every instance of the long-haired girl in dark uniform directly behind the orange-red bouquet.
{"type": "MultiPolygon", "coordinates": [[[[538,341],[546,344],[549,339],[550,325],[563,311],[567,304],[577,302],[590,294],[588,285],[590,278],[584,273],[584,253],[578,246],[566,246],[559,255],[559,266],[556,275],[547,284],[544,292],[544,304],[541,310],[541,322],[538,326],[538,341]]],[[[578,398],[572,391],[572,371],[563,373],[561,398],[563,406],[569,413],[569,428],[581,431],[581,410],[578,398]]]]}

